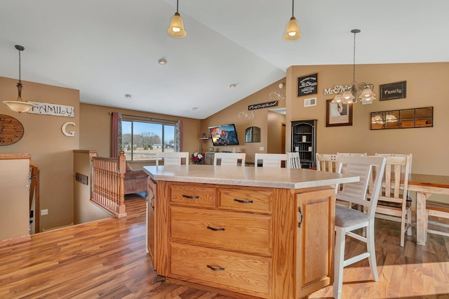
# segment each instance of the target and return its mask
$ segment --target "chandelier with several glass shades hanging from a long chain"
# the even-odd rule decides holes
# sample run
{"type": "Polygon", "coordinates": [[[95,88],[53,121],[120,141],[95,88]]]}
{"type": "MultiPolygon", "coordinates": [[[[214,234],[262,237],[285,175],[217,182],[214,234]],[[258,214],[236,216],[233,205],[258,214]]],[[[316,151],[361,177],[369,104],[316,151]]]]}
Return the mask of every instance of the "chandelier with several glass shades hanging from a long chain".
{"type": "Polygon", "coordinates": [[[356,84],[356,34],[360,33],[360,29],[352,29],[351,33],[354,33],[354,56],[352,64],[352,83],[351,88],[348,91],[344,91],[343,94],[337,93],[332,102],[342,102],[343,104],[352,104],[357,102],[357,98],[360,99],[362,104],[370,104],[375,100],[375,93],[373,92],[374,85],[362,82],[361,84],[356,84]],[[361,94],[358,95],[358,91],[361,94]]]}

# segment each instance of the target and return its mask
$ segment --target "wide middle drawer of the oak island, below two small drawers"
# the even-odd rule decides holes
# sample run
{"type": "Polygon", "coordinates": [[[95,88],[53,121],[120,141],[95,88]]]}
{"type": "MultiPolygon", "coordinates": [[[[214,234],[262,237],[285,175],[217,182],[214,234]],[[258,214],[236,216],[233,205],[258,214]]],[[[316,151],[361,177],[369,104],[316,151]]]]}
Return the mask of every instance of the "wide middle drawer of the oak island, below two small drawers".
{"type": "Polygon", "coordinates": [[[200,244],[269,255],[271,215],[170,207],[170,236],[200,244]]]}

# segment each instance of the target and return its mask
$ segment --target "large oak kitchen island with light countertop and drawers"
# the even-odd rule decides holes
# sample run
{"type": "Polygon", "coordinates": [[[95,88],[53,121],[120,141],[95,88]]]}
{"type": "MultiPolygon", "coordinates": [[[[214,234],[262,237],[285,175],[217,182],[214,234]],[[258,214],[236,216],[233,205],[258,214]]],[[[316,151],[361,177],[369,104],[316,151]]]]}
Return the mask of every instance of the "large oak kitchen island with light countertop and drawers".
{"type": "Polygon", "coordinates": [[[145,166],[158,275],[248,298],[302,298],[333,282],[336,183],[310,169],[145,166]]]}

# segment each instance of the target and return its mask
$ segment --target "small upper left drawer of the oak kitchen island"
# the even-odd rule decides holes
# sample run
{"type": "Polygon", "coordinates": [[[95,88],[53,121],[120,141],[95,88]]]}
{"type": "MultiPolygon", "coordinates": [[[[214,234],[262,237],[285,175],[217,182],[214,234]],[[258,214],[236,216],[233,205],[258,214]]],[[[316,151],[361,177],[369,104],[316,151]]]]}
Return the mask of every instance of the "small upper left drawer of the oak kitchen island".
{"type": "Polygon", "coordinates": [[[189,206],[215,207],[215,188],[198,185],[171,185],[170,202],[189,206]]]}

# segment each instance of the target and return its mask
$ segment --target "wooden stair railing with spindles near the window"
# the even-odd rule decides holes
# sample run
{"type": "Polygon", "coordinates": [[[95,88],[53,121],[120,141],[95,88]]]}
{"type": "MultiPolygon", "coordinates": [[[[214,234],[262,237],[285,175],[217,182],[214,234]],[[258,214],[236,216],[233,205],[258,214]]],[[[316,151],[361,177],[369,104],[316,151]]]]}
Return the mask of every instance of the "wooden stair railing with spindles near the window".
{"type": "Polygon", "coordinates": [[[93,178],[91,201],[115,215],[116,218],[126,217],[125,184],[126,173],[125,152],[119,153],[119,158],[92,156],[93,178]]]}

